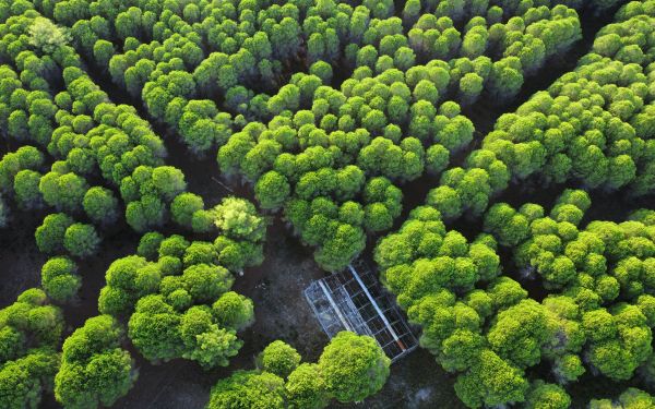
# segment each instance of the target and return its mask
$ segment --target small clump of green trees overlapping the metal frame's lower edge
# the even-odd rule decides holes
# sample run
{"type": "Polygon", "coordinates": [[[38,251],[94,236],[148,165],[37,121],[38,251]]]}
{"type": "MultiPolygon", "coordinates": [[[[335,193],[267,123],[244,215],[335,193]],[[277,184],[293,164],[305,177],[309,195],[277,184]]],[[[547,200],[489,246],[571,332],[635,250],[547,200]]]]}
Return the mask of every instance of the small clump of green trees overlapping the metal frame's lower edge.
{"type": "Polygon", "coordinates": [[[321,409],[333,398],[358,401],[384,385],[390,365],[373,338],[349,332],[330,341],[318,364],[300,363],[298,352],[281,340],[271,342],[258,362],[260,370],[218,381],[207,408],[321,409]]]}

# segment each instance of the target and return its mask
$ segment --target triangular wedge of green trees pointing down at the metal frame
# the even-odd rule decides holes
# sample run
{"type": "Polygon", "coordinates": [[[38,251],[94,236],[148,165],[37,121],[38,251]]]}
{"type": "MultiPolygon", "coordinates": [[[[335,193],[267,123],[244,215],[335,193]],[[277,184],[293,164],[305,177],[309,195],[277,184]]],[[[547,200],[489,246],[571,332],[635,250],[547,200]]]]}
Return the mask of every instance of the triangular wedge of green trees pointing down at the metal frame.
{"type": "Polygon", "coordinates": [[[153,121],[198,155],[218,146],[222,172],[282,209],[329,270],[393,226],[405,182],[472,144],[461,106],[511,101],[581,38],[576,9],[612,4],[35,3],[153,121]]]}

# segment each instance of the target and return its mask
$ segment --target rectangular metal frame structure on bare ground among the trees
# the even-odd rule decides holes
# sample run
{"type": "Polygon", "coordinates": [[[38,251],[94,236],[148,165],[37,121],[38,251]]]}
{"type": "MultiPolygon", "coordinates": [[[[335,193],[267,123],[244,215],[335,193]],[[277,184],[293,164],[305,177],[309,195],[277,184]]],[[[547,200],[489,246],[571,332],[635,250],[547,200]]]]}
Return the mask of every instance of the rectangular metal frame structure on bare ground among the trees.
{"type": "Polygon", "coordinates": [[[330,339],[342,330],[368,335],[392,362],[418,346],[397,305],[362,261],[312,281],[305,297],[330,339]]]}

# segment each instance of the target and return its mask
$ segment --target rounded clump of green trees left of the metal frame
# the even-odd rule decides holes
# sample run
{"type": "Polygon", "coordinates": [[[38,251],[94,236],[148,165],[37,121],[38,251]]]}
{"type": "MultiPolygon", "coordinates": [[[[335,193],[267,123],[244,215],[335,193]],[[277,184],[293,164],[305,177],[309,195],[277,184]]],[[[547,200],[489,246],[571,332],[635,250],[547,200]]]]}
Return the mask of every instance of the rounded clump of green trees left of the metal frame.
{"type": "Polygon", "coordinates": [[[234,277],[217,264],[215,244],[151,232],[139,254],[109,266],[99,310],[129,318],[128,335],[151,362],[186,358],[205,369],[227,366],[242,345],[237,330],[254,313],[250,299],[229,291],[234,277]]]}

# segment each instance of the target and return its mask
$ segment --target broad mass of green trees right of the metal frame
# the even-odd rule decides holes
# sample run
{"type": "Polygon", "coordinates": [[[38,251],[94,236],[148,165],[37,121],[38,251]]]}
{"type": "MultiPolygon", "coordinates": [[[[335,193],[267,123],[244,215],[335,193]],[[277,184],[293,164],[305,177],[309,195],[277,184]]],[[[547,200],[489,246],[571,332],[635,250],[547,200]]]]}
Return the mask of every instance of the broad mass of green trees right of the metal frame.
{"type": "MultiPolygon", "coordinates": [[[[653,209],[591,220],[583,190],[563,191],[549,212],[488,207],[531,180],[652,193],[654,27],[653,1],[622,7],[574,71],[501,116],[376,249],[382,281],[468,407],[567,408],[569,392],[598,378],[654,385],[653,209]],[[472,241],[444,224],[463,215],[484,218],[472,241]]],[[[614,398],[591,407],[655,405],[634,388],[614,398]]]]}

